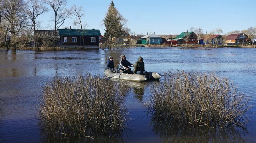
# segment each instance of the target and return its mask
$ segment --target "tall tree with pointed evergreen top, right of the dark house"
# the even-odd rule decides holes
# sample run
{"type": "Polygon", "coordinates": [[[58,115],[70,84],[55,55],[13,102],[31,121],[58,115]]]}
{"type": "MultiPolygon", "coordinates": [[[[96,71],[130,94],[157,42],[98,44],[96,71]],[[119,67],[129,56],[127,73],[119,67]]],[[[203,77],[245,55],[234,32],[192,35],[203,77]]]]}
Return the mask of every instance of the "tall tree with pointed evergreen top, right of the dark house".
{"type": "Polygon", "coordinates": [[[108,45],[112,45],[112,37],[118,37],[122,34],[122,28],[126,24],[127,20],[117,11],[114,6],[114,2],[108,8],[108,12],[103,20],[105,26],[106,41],[104,43],[103,49],[108,45]]]}

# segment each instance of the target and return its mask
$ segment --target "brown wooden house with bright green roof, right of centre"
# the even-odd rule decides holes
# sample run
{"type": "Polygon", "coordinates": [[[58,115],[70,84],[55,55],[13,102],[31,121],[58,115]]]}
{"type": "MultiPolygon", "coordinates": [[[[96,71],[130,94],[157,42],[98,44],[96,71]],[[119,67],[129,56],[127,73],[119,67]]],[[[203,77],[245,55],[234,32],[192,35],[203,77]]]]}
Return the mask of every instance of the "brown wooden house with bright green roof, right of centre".
{"type": "Polygon", "coordinates": [[[197,44],[197,35],[193,31],[182,32],[180,35],[174,37],[172,40],[177,41],[177,44],[197,44]]]}

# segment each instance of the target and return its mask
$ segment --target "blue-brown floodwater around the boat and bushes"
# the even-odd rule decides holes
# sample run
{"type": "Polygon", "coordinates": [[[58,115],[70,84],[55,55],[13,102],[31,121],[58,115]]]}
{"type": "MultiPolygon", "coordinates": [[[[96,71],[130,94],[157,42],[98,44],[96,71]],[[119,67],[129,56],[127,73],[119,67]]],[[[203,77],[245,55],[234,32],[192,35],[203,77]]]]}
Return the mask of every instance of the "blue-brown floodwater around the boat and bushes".
{"type": "MultiPolygon", "coordinates": [[[[113,56],[117,67],[120,55],[135,63],[144,58],[145,69],[163,75],[167,70],[215,71],[238,85],[241,92],[256,102],[256,49],[178,49],[132,48],[116,50],[62,50],[62,51],[0,51],[0,142],[52,142],[41,133],[38,108],[42,86],[55,75],[77,76],[79,73],[104,75],[107,59],[113,56]]],[[[248,112],[251,119],[247,130],[198,130],[174,127],[147,116],[143,102],[151,93],[150,85],[157,82],[129,82],[111,79],[126,92],[125,105],[129,108],[129,132],[124,142],[255,142],[255,106],[248,112]]],[[[78,139],[80,142],[83,139],[78,139]]],[[[61,141],[62,142],[62,141],[61,141]]],[[[70,141],[67,141],[70,142],[70,141]]]]}

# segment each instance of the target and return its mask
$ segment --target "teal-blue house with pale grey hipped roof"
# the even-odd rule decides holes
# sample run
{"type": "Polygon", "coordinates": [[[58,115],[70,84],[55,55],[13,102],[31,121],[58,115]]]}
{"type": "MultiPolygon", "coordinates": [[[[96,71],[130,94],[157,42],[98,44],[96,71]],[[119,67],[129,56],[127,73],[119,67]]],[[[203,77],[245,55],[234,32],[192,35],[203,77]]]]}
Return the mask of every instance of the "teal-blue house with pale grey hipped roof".
{"type": "Polygon", "coordinates": [[[142,44],[162,44],[163,43],[163,38],[158,35],[155,35],[155,33],[143,36],[140,38],[140,40],[142,41],[142,44]]]}

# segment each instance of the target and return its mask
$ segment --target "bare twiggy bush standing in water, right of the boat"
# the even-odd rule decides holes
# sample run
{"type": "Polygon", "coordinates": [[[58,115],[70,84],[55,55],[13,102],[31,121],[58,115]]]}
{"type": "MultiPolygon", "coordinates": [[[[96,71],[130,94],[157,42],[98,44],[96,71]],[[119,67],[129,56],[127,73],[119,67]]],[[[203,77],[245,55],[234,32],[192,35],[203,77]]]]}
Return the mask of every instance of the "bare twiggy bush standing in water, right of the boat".
{"type": "Polygon", "coordinates": [[[153,118],[209,127],[243,126],[249,121],[249,99],[228,78],[214,73],[169,72],[161,87],[151,91],[145,106],[153,118]]]}

